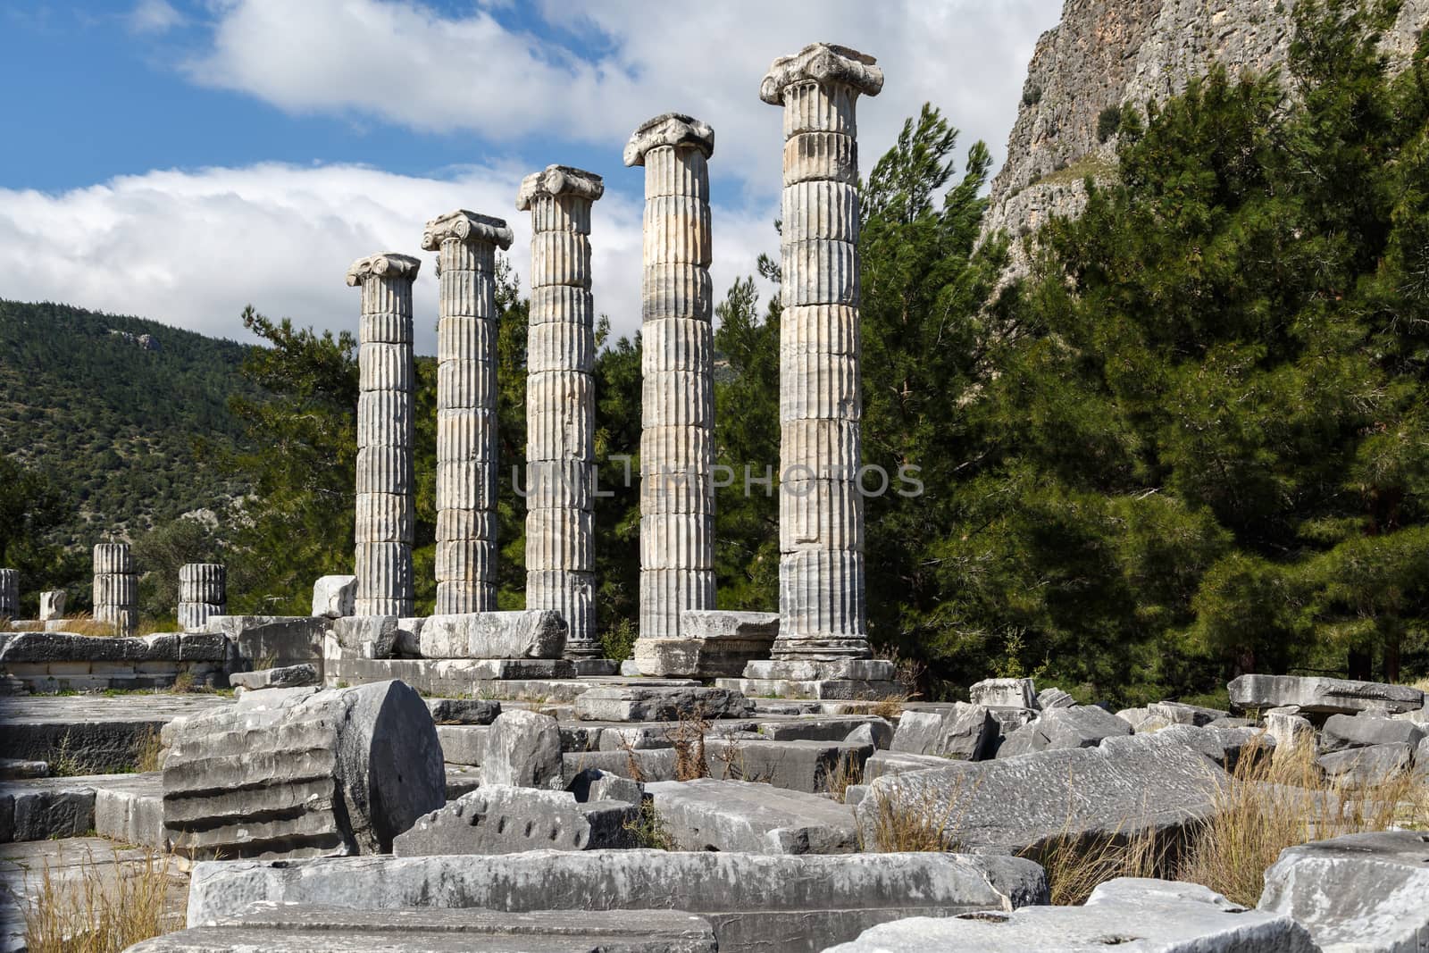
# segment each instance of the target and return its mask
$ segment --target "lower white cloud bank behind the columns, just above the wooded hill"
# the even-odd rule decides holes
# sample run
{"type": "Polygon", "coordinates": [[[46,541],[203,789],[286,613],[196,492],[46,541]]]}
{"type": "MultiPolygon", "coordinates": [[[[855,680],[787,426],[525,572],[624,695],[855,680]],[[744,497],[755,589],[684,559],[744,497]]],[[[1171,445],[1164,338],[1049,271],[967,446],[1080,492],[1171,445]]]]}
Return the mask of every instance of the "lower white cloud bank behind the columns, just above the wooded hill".
{"type": "MultiPolygon", "coordinates": [[[[137,314],[206,334],[240,337],[239,313],[254,304],[299,324],[356,329],[357,294],[347,266],[393,250],[424,259],[417,279],[417,347],[436,349],[433,256],[420,251],[423,223],[466,207],[503,214],[516,233],[512,264],[529,276],[530,221],[514,210],[520,174],[472,169],[450,180],[360,166],[151,171],[61,194],[0,189],[0,273],[6,297],[54,300],[137,314]]],[[[609,194],[596,204],[593,291],[614,330],[640,324],[640,207],[609,194]]],[[[773,250],[767,226],[716,211],[723,290],[773,250]],[[745,236],[763,239],[747,244],[745,236]]]]}

